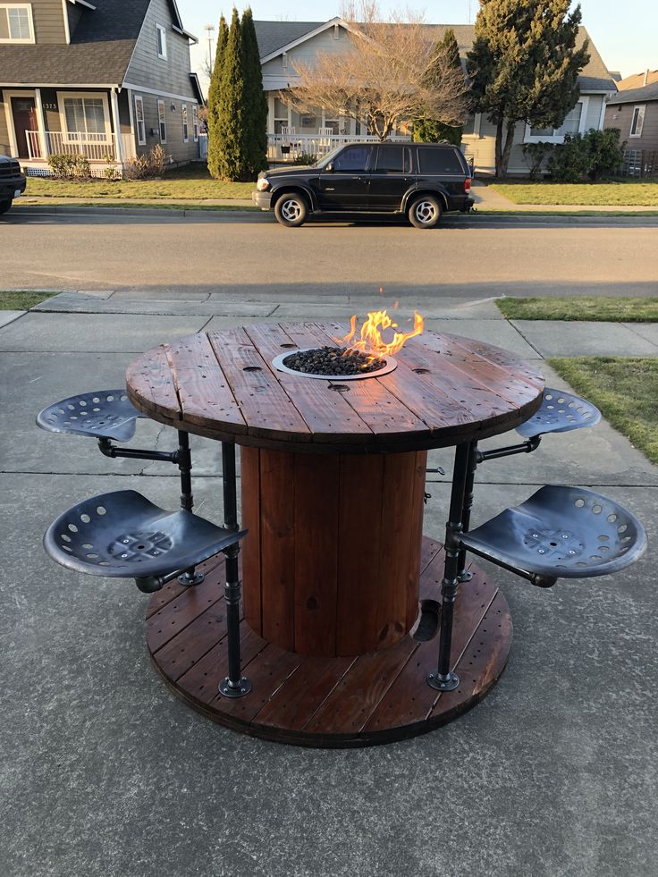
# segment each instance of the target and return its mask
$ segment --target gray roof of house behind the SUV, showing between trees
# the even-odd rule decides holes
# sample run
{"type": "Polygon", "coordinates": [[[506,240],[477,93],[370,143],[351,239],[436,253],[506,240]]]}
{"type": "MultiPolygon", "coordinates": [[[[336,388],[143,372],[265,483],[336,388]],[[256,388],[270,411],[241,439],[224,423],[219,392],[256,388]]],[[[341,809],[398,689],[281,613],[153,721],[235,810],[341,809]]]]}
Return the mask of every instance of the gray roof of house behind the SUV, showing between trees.
{"type": "MultiPolygon", "coordinates": [[[[309,38],[316,30],[320,30],[330,23],[342,23],[341,19],[331,21],[254,21],[256,38],[261,62],[266,58],[283,54],[293,43],[309,38]]],[[[446,30],[453,30],[460,56],[465,58],[466,53],[473,45],[474,24],[426,24],[426,29],[432,31],[432,36],[437,41],[443,37],[446,30]]],[[[586,28],[579,28],[577,48],[589,40],[589,62],[578,76],[578,85],[582,91],[616,91],[617,86],[612,79],[611,73],[603,63],[603,58],[592,42],[586,28]]]]}

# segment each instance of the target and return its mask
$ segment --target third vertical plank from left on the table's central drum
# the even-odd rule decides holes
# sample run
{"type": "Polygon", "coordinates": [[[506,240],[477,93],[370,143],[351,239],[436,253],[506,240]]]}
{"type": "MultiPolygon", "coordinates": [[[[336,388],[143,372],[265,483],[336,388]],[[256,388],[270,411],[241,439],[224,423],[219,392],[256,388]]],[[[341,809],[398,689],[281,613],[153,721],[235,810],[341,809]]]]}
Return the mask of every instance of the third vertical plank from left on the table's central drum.
{"type": "Polygon", "coordinates": [[[340,458],[295,454],[294,648],[335,654],[340,458]]]}

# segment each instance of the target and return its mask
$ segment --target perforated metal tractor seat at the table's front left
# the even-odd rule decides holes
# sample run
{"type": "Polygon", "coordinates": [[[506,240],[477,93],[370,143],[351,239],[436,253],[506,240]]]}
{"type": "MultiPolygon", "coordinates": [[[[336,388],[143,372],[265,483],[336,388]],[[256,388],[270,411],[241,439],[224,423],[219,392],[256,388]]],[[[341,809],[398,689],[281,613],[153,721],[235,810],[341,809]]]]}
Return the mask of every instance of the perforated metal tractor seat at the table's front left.
{"type": "Polygon", "coordinates": [[[188,510],[166,511],[137,491],[120,490],[64,511],[48,527],[44,547],[68,569],[134,578],[148,594],[176,577],[191,584],[187,570],[237,545],[246,532],[217,527],[188,510]]]}

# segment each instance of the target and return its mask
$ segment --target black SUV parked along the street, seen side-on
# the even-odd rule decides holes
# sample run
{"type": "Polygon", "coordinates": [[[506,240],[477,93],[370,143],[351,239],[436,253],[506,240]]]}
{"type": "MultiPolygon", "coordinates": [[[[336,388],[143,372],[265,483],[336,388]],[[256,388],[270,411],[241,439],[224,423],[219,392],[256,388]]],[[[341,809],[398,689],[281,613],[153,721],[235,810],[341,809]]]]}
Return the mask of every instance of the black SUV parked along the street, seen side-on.
{"type": "Polygon", "coordinates": [[[438,143],[350,143],[310,167],[259,174],[252,198],[295,227],[316,213],[398,214],[434,228],[444,212],[468,211],[471,173],[459,148],[438,143]]]}

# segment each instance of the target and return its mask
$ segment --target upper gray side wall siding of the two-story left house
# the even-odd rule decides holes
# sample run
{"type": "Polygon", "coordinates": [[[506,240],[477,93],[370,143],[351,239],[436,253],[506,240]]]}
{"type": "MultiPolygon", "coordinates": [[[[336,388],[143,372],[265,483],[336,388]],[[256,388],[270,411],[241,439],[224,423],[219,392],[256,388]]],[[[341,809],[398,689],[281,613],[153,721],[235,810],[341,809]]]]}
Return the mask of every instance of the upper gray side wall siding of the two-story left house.
{"type": "Polygon", "coordinates": [[[172,13],[167,0],[152,0],[139,34],[125,81],[142,89],[157,89],[189,97],[197,102],[190,79],[190,42],[172,30],[172,13]],[[167,57],[157,56],[156,24],[166,28],[167,57]]]}

